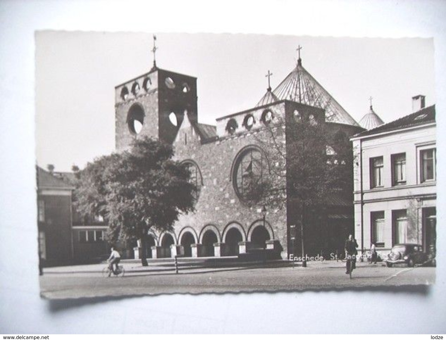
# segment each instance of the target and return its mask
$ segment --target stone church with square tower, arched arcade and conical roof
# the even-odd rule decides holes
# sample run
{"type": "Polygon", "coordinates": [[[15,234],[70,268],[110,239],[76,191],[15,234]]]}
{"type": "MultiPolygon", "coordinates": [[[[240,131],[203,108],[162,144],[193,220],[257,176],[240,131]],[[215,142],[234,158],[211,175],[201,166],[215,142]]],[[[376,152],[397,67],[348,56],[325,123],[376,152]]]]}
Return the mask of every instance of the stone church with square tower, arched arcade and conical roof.
{"type": "MultiPolygon", "coordinates": [[[[275,90],[268,87],[256,106],[220,117],[216,126],[198,123],[196,84],[196,78],[162,70],[154,62],[147,74],[115,88],[116,151],[127,149],[141,136],[171,143],[175,160],[189,168],[199,188],[195,212],[181,215],[172,232],[149,231],[147,253],[136,247],[135,256],[222,257],[259,248],[277,258],[299,254],[300,233],[291,238],[290,228],[296,225],[293,203],[285,197],[283,209],[249,204],[245,173],[257,182],[270,176],[269,168],[277,164],[268,163],[262,141],[271,131],[286,131],[286,123],[279,120],[314,119],[333,135],[345,135],[347,143],[349,136],[363,129],[302,67],[300,58],[275,90]]],[[[286,132],[277,133],[276,142],[286,144],[286,132]]],[[[314,213],[306,230],[306,253],[342,250],[353,229],[351,190],[314,213]]]]}

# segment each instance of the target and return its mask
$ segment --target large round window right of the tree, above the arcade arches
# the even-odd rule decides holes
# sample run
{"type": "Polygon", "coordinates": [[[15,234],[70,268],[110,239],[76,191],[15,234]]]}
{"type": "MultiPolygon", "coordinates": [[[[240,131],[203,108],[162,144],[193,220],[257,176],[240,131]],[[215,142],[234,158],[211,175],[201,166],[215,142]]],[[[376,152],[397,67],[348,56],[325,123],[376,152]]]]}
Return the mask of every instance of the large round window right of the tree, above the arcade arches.
{"type": "Polygon", "coordinates": [[[268,163],[257,147],[247,147],[235,159],[233,184],[237,196],[245,202],[256,202],[264,193],[268,163]]]}

